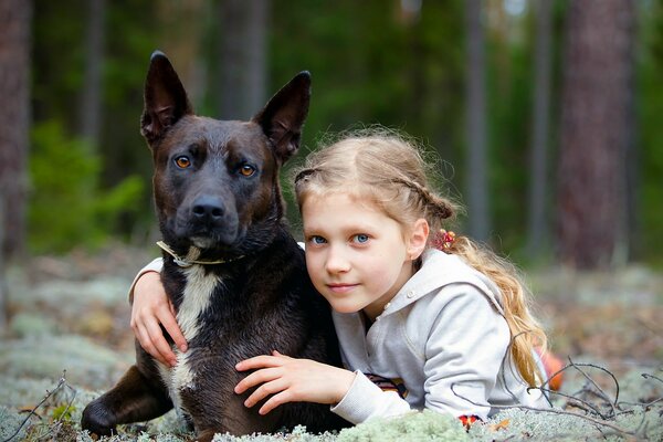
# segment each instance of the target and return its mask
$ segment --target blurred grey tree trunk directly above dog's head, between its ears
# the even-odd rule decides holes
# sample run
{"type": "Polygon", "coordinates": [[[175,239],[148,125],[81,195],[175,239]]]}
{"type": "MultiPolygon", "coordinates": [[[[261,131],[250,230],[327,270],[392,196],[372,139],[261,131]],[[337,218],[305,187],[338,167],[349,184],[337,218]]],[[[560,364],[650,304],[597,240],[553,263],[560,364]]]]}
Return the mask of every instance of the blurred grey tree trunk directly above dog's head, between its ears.
{"type": "Polygon", "coordinates": [[[220,2],[221,118],[249,118],[266,102],[269,14],[269,0],[220,2]]]}

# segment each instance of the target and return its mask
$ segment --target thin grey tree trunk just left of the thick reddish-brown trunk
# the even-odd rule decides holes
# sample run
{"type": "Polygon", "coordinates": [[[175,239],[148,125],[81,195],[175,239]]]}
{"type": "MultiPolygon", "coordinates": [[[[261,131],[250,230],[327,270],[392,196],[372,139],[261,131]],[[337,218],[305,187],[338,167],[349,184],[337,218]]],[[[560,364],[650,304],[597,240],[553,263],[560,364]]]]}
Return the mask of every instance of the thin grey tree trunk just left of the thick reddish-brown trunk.
{"type": "Polygon", "coordinates": [[[548,120],[550,114],[550,40],[551,0],[536,2],[536,50],[534,103],[532,112],[532,151],[529,158],[529,194],[527,252],[535,256],[547,236],[546,207],[548,189],[548,120]]]}

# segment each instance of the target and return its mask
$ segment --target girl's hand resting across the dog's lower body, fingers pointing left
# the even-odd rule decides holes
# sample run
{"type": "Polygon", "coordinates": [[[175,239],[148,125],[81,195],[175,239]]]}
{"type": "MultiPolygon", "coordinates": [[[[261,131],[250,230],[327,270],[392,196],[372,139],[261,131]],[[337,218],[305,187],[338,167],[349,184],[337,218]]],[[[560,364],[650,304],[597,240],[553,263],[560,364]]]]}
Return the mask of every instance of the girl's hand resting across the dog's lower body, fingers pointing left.
{"type": "Polygon", "coordinates": [[[262,383],[244,406],[253,407],[272,394],[261,407],[260,414],[287,402],[338,403],[355,380],[351,371],[309,359],[294,359],[278,351],[243,360],[235,368],[239,371],[257,370],[235,386],[235,393],[241,394],[262,383]]]}

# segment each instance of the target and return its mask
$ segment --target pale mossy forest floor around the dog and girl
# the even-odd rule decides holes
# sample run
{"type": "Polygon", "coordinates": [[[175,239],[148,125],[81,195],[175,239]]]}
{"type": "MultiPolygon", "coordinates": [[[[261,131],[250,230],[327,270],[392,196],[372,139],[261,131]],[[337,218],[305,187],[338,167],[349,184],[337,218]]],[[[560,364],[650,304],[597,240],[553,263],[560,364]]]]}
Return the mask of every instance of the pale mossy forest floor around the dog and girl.
{"type": "MultiPolygon", "coordinates": [[[[127,288],[150,253],[157,252],[115,246],[95,254],[39,256],[10,269],[10,329],[0,341],[0,442],[90,440],[78,431],[80,414],[133,361],[127,288]]],[[[388,434],[427,440],[424,433],[430,440],[444,439],[443,433],[450,440],[457,434],[469,440],[663,440],[663,404],[655,402],[663,397],[663,275],[634,265],[607,273],[556,267],[526,275],[551,349],[575,365],[565,371],[562,396],[555,396],[560,413],[505,410],[469,433],[459,433],[455,421],[425,414],[340,435],[313,436],[298,429],[249,439],[371,440],[378,431],[373,440],[388,440],[388,434]]],[[[169,413],[127,425],[115,439],[189,436],[169,413]]]]}

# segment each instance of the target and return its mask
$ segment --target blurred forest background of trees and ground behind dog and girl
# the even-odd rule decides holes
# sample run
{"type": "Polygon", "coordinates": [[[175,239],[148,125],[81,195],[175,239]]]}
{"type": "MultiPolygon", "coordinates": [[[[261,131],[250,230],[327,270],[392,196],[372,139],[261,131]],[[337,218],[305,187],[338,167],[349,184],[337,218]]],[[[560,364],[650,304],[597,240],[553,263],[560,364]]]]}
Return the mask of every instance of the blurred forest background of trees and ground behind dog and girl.
{"type": "Polygon", "coordinates": [[[130,360],[126,287],[158,253],[155,50],[218,118],[309,71],[288,168],[328,133],[417,137],[466,208],[453,229],[532,275],[557,351],[660,372],[663,0],[0,0],[0,403],[61,368],[104,389],[130,360]],[[91,343],[85,364],[122,358],[35,359],[91,343]]]}

